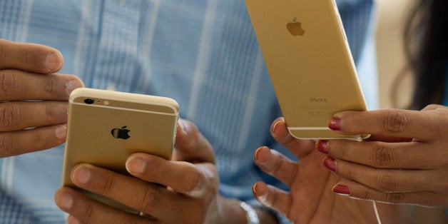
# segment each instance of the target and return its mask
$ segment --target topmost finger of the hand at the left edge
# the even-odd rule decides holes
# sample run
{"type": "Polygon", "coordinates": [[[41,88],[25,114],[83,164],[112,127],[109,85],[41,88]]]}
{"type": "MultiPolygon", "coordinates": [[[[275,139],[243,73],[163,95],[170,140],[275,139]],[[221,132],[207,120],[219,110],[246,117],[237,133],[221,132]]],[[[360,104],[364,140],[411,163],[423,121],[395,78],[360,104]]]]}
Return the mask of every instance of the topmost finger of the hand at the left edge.
{"type": "Polygon", "coordinates": [[[61,52],[41,44],[24,44],[0,39],[0,69],[55,73],[63,66],[61,52]]]}

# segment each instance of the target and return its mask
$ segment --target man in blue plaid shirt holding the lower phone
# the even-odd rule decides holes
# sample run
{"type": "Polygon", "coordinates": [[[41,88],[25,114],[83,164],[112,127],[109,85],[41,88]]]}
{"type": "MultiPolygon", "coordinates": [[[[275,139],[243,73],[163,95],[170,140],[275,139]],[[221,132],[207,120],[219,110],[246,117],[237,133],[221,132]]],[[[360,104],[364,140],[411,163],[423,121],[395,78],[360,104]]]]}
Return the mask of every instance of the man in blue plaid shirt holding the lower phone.
{"type": "MultiPolygon", "coordinates": [[[[337,4],[375,108],[374,3],[337,4]]],[[[69,223],[287,223],[251,190],[258,180],[287,187],[250,149],[287,150],[268,131],[280,108],[244,1],[1,0],[0,36],[0,223],[65,223],[66,213],[69,223]],[[137,178],[73,169],[78,187],[144,216],[58,190],[68,94],[81,86],[180,104],[173,161],[133,155],[126,165],[137,178]]]]}

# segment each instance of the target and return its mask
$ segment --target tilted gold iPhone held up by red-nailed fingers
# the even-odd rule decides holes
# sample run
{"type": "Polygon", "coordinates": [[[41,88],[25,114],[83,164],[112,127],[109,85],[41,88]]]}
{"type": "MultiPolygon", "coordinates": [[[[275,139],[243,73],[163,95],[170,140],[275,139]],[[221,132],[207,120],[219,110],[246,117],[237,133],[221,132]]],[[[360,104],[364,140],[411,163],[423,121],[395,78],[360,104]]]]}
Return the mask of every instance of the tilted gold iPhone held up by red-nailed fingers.
{"type": "Polygon", "coordinates": [[[366,111],[334,0],[245,0],[287,127],[296,138],[353,138],[327,128],[366,111]]]}

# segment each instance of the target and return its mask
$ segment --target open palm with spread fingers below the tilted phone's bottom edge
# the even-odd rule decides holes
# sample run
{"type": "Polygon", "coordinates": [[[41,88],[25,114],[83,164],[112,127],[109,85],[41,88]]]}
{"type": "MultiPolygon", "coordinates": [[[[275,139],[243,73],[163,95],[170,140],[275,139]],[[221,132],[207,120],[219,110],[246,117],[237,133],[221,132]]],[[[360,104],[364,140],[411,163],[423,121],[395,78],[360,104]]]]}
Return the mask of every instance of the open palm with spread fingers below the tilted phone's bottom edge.
{"type": "MultiPolygon", "coordinates": [[[[293,138],[280,118],[271,133],[300,159],[290,161],[267,147],[255,152],[255,163],[266,173],[290,186],[282,191],[263,182],[253,186],[253,194],[263,205],[278,210],[294,223],[377,223],[372,201],[354,200],[332,192],[339,175],[322,166],[325,155],[315,150],[312,140],[293,138]]],[[[409,207],[377,203],[384,223],[407,223],[409,207]]]]}

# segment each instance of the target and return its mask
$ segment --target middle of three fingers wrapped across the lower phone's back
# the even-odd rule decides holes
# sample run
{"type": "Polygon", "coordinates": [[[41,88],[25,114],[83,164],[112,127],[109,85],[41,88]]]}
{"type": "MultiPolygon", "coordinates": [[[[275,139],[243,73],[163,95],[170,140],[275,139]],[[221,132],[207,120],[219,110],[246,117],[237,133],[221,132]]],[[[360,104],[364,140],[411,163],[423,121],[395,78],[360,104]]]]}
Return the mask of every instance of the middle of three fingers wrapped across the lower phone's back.
{"type": "Polygon", "coordinates": [[[111,198],[130,208],[162,220],[171,220],[187,204],[172,190],[111,170],[78,164],[71,170],[71,180],[79,188],[111,198]],[[166,208],[170,208],[169,211],[166,208]]]}

